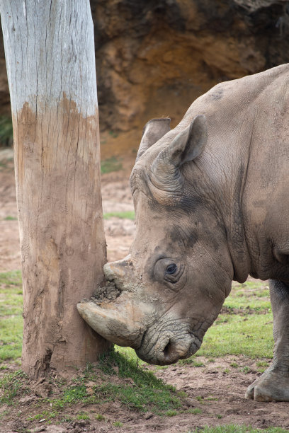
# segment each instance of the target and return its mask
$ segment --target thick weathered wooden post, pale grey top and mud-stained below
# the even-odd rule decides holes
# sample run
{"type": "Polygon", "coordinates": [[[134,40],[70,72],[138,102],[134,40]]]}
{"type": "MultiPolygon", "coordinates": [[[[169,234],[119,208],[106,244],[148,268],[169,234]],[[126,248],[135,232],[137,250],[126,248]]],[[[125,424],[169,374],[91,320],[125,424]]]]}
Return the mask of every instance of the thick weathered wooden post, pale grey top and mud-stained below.
{"type": "Polygon", "coordinates": [[[23,271],[22,368],[95,362],[108,342],[77,312],[103,279],[94,28],[89,0],[0,0],[23,271]]]}

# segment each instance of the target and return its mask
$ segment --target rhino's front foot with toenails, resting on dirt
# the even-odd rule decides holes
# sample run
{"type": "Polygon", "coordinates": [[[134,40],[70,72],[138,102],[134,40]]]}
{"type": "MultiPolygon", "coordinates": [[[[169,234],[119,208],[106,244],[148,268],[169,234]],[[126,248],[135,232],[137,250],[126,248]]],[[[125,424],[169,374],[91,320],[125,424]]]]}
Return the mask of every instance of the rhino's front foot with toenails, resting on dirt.
{"type": "Polygon", "coordinates": [[[289,374],[270,367],[247,388],[246,398],[256,401],[289,401],[289,374]]]}

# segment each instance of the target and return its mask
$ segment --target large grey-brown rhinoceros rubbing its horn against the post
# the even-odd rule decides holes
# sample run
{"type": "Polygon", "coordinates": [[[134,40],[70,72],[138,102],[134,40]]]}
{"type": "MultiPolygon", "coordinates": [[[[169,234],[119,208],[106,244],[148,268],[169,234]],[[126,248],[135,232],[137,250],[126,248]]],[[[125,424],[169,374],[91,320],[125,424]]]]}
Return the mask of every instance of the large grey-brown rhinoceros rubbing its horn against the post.
{"type": "Polygon", "coordinates": [[[190,357],[232,280],[270,279],[274,356],[246,391],[289,400],[289,64],[217,84],[174,129],[143,130],[130,176],[136,235],[104,267],[110,299],[79,313],[152,364],[190,357]]]}

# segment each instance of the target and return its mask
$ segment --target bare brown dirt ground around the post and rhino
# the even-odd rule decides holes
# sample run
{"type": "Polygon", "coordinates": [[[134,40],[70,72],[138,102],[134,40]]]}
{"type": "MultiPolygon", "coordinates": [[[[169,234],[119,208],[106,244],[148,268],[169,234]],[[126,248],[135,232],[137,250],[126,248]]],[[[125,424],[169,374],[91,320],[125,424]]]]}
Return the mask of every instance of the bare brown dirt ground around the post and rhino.
{"type": "MultiPolygon", "coordinates": [[[[102,194],[103,212],[132,210],[132,197],[128,185],[128,177],[132,160],[125,170],[103,175],[102,194]]],[[[18,270],[21,258],[18,241],[18,221],[16,210],[16,192],[13,177],[13,153],[10,149],[0,150],[0,272],[18,270]],[[15,218],[15,219],[13,219],[15,218]]],[[[108,244],[108,260],[118,260],[127,253],[134,236],[133,221],[111,218],[104,221],[106,241],[108,244]]],[[[176,364],[166,369],[157,369],[156,376],[166,383],[176,386],[177,391],[187,394],[188,408],[199,408],[200,413],[183,412],[174,417],[142,415],[140,412],[128,410],[115,401],[102,405],[101,413],[104,421],[79,421],[62,425],[43,426],[38,423],[34,432],[189,432],[205,425],[251,425],[252,427],[283,427],[289,429],[289,403],[255,403],[244,398],[246,387],[258,376],[254,361],[245,357],[227,357],[215,362],[203,360],[204,366],[176,364]],[[232,361],[238,368],[232,369],[232,361]],[[249,372],[242,370],[249,366],[249,372]],[[109,421],[109,422],[108,422],[109,421]],[[113,427],[115,421],[123,422],[123,427],[113,427]]],[[[11,366],[13,368],[13,366],[11,366]]],[[[248,369],[246,369],[247,371],[248,369]]],[[[39,396],[30,400],[22,399],[15,420],[10,420],[0,427],[1,432],[25,431],[28,409],[33,412],[39,396]]],[[[0,414],[6,410],[0,408],[0,414]]],[[[75,408],[79,410],[79,408],[75,408]]],[[[86,412],[100,413],[98,407],[85,408],[86,412]]],[[[30,428],[30,427],[29,427],[30,428]]],[[[288,430],[289,431],[289,430],[288,430]]]]}

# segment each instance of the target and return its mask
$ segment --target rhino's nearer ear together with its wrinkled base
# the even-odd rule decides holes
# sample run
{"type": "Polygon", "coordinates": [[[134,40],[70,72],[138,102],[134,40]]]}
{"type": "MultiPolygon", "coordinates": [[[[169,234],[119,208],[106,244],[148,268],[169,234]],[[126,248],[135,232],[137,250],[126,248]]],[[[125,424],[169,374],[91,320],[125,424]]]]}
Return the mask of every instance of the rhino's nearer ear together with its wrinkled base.
{"type": "Polygon", "coordinates": [[[163,190],[174,190],[180,178],[179,168],[199,156],[208,141],[207,121],[204,115],[194,117],[191,125],[181,131],[154,160],[154,184],[163,190]],[[157,180],[157,182],[156,182],[157,180]]]}

